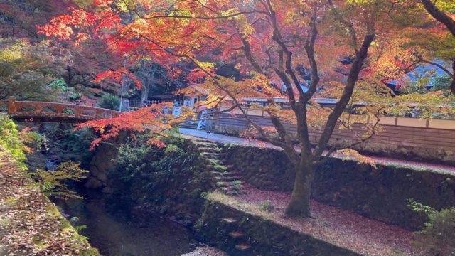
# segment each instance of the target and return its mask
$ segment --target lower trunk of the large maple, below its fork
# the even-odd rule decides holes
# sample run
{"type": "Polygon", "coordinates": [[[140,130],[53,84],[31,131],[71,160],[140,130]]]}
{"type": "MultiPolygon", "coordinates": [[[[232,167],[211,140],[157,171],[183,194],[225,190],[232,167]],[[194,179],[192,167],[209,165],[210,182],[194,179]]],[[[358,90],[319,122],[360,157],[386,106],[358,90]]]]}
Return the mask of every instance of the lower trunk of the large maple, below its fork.
{"type": "Polygon", "coordinates": [[[311,184],[314,179],[314,166],[312,164],[300,164],[296,166],[296,178],[289,201],[284,214],[289,217],[309,217],[311,184]]]}

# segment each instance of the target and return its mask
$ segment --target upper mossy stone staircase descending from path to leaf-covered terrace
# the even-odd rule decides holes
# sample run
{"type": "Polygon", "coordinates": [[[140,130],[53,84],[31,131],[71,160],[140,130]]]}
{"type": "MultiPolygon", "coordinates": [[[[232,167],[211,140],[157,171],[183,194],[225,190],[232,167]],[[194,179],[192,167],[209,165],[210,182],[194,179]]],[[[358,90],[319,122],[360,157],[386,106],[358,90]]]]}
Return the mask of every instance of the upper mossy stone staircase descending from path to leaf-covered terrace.
{"type": "Polygon", "coordinates": [[[232,171],[232,166],[225,164],[224,154],[217,144],[202,138],[193,139],[193,143],[198,146],[198,151],[210,161],[210,175],[215,188],[228,195],[239,195],[245,193],[240,181],[242,178],[237,172],[232,171]]]}

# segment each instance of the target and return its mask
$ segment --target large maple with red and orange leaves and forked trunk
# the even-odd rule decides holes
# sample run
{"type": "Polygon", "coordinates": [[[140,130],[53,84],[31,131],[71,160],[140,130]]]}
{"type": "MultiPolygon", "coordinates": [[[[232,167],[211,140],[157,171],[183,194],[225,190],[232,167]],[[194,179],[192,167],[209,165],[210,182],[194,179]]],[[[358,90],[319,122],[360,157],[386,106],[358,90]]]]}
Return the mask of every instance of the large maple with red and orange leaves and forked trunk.
{"type": "MultiPolygon", "coordinates": [[[[395,26],[394,18],[407,7],[388,0],[97,0],[90,9],[53,18],[41,32],[60,40],[102,38],[117,55],[128,54],[131,61],[147,55],[175,75],[179,71],[171,63],[196,66],[189,80],[210,92],[200,105],[230,102],[228,110],[240,112],[263,139],[284,149],[296,171],[286,214],[309,216],[316,169],[337,150],[329,146],[333,131],[365,124],[358,144],[377,132],[380,114],[398,105],[382,78],[391,78],[397,60],[393,50],[400,40],[394,35],[403,26],[395,26]],[[235,64],[242,79],[216,75],[215,63],[235,64]],[[252,107],[267,112],[273,127],[250,119],[243,107],[248,96],[267,100],[266,106],[252,107]],[[290,110],[273,97],[287,98],[290,110]],[[315,97],[336,98],[336,105],[319,107],[315,97]],[[348,116],[346,108],[355,102],[368,104],[358,109],[363,115],[348,116]],[[285,129],[289,122],[296,124],[296,134],[285,129]],[[316,144],[310,129],[321,129],[316,144]]],[[[118,78],[125,71],[110,70],[104,76],[118,78]]],[[[154,116],[147,113],[128,120],[140,128],[146,121],[141,116],[154,116]]],[[[90,125],[126,129],[126,118],[90,125]]]]}

